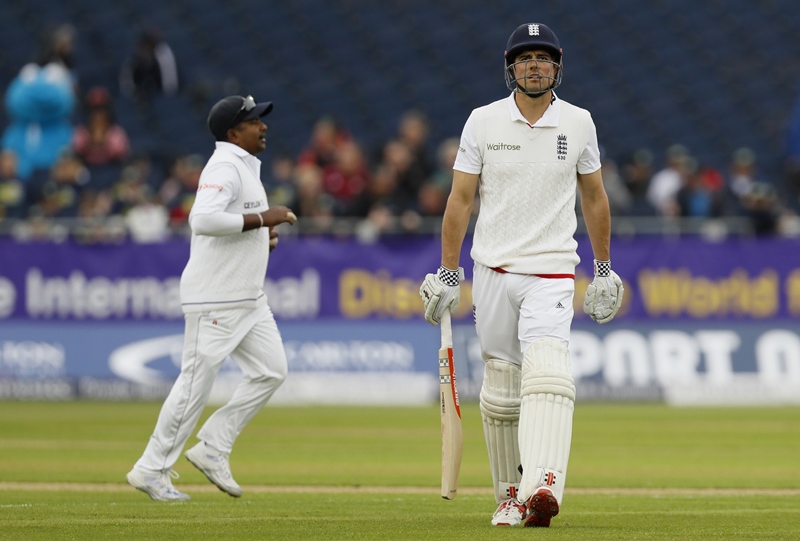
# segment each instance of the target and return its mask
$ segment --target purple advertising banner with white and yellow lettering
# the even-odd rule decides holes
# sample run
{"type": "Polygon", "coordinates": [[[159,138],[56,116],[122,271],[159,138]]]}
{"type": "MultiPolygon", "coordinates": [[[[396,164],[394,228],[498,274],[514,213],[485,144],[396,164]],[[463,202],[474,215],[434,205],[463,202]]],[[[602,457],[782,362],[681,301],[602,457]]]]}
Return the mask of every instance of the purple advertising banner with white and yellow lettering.
{"type": "MultiPolygon", "coordinates": [[[[576,319],[591,281],[580,238],[576,319]]],[[[467,282],[457,319],[471,315],[467,282]]],[[[617,238],[613,268],[625,282],[625,321],[768,322],[800,316],[800,243],[790,239],[617,238]]],[[[179,321],[179,280],[189,245],[17,244],[0,240],[0,320],[179,321]]],[[[273,252],[265,288],[279,320],[422,320],[418,288],[439,264],[434,237],[287,237],[273,252]]]]}

